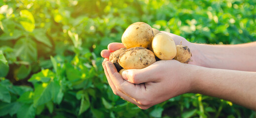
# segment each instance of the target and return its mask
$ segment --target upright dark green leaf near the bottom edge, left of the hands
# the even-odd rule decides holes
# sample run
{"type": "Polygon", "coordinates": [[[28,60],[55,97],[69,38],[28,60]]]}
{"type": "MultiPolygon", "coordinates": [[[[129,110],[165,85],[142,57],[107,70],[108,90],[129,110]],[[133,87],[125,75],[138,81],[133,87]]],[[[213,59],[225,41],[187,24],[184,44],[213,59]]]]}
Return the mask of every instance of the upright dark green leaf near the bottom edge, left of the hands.
{"type": "Polygon", "coordinates": [[[79,109],[78,115],[81,115],[83,112],[85,112],[90,107],[90,99],[88,93],[84,93],[82,95],[81,99],[81,105],[79,109]]]}

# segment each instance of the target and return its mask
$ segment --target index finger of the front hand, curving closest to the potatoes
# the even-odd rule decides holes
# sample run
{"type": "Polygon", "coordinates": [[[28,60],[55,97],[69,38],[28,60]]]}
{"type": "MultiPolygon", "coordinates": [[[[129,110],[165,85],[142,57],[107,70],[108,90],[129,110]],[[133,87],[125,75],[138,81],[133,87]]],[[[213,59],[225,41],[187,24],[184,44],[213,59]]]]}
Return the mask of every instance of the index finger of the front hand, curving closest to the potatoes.
{"type": "Polygon", "coordinates": [[[121,91],[122,93],[124,93],[125,95],[133,99],[140,97],[141,94],[138,94],[137,93],[138,91],[136,91],[140,88],[136,88],[134,84],[125,81],[122,78],[122,76],[117,72],[113,63],[111,63],[110,61],[107,61],[106,67],[110,75],[111,81],[118,91],[121,91]]]}

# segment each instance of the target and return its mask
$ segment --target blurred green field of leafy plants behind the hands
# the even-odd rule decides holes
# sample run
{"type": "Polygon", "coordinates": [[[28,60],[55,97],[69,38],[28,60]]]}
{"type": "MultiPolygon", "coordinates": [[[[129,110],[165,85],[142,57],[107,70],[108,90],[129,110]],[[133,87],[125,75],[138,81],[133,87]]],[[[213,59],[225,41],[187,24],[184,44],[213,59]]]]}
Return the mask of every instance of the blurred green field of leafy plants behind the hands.
{"type": "Polygon", "coordinates": [[[147,110],[114,95],[100,52],[134,22],[190,42],[256,41],[256,0],[0,0],[1,118],[256,118],[187,93],[147,110]]]}

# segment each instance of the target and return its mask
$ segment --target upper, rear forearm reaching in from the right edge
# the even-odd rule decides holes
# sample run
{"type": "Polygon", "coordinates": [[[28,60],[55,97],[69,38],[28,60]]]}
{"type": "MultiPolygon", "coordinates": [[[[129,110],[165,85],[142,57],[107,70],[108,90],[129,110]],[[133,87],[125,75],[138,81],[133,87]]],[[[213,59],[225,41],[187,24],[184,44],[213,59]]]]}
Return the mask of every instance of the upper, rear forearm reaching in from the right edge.
{"type": "Polygon", "coordinates": [[[237,45],[191,43],[192,62],[209,68],[256,72],[256,42],[237,45]]]}

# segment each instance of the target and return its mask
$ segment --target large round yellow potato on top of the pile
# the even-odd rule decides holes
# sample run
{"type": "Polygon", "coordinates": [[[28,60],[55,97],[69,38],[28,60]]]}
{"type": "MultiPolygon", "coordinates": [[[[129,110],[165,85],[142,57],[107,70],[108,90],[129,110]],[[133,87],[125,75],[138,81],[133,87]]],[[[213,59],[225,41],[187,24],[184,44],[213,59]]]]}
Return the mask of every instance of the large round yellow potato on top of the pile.
{"type": "Polygon", "coordinates": [[[121,40],[126,48],[148,48],[148,46],[151,45],[153,38],[153,30],[148,24],[136,22],[124,31],[121,40]]]}

